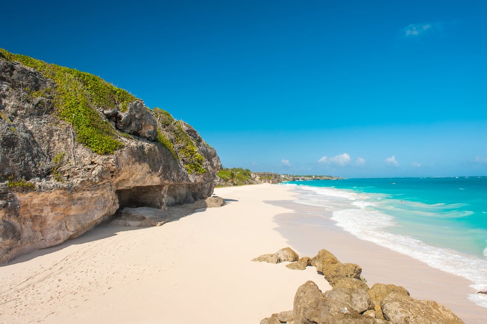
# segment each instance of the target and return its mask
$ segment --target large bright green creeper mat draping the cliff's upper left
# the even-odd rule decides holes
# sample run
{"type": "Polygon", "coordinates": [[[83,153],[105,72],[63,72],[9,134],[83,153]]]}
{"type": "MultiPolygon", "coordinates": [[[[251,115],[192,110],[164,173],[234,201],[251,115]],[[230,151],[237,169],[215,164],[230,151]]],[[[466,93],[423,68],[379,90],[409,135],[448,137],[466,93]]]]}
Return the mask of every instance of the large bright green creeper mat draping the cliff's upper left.
{"type": "Polygon", "coordinates": [[[123,146],[114,128],[101,118],[96,108],[126,110],[129,103],[137,99],[128,91],[93,74],[12,54],[1,48],[0,58],[22,63],[56,82],[56,111],[61,119],[75,126],[78,142],[98,154],[113,153],[123,146]]]}

